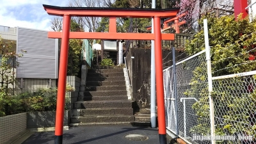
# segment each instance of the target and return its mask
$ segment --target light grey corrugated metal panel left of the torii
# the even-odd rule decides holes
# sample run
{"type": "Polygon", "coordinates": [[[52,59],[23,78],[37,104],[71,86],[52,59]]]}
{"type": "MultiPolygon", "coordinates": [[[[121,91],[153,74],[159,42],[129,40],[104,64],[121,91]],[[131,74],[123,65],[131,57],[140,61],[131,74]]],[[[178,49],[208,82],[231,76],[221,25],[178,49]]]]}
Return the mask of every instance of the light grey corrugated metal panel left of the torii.
{"type": "Polygon", "coordinates": [[[58,40],[47,37],[48,32],[38,29],[17,28],[17,77],[58,78],[58,40]]]}

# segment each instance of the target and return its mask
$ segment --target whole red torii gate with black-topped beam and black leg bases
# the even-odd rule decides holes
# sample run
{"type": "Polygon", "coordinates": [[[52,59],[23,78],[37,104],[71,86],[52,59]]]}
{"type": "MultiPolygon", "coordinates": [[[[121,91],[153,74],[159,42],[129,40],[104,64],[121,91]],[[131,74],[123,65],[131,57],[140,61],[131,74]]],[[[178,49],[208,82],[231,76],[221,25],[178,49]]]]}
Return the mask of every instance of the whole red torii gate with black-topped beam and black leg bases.
{"type": "Polygon", "coordinates": [[[166,123],[164,112],[163,61],[161,40],[174,40],[174,34],[161,33],[161,18],[176,17],[179,8],[172,9],[136,9],[136,8],[88,8],[59,7],[43,4],[49,15],[63,17],[62,32],[48,32],[49,38],[61,38],[60,72],[55,123],[55,143],[63,140],[63,118],[65,106],[65,88],[67,80],[68,40],[77,39],[111,39],[111,40],[155,40],[156,53],[156,91],[159,140],[166,144],[166,123]],[[109,32],[70,32],[71,17],[109,17],[109,32]],[[153,18],[154,33],[116,33],[116,17],[153,18]]]}

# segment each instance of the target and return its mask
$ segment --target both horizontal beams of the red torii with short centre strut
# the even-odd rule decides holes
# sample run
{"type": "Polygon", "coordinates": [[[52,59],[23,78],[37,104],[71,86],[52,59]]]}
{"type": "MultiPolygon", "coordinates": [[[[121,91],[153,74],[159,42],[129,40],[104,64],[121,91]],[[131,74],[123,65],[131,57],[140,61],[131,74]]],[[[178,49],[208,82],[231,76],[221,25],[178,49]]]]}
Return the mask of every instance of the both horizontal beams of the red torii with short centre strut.
{"type": "MultiPolygon", "coordinates": [[[[154,40],[152,33],[116,33],[116,17],[138,18],[173,18],[179,8],[152,9],[152,8],[93,8],[93,7],[60,7],[43,4],[49,15],[64,17],[109,17],[108,33],[97,32],[70,32],[69,38],[77,39],[108,39],[108,40],[154,40]]],[[[61,38],[61,32],[49,31],[49,38],[61,38]]],[[[162,33],[162,40],[174,40],[173,33],[162,33]]]]}

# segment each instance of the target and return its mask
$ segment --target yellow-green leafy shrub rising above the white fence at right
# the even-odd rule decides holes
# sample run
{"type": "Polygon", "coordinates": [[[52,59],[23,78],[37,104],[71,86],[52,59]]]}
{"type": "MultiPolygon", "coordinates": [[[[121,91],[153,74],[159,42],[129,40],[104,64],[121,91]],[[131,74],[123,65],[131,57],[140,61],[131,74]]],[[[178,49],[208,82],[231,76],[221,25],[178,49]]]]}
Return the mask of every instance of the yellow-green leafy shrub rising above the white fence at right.
{"type": "MultiPolygon", "coordinates": [[[[205,19],[205,17],[203,18],[205,19]]],[[[200,24],[202,24],[202,20],[200,24]]],[[[236,74],[254,70],[256,63],[250,63],[251,54],[255,51],[255,22],[248,19],[234,20],[234,15],[221,17],[219,19],[207,17],[209,28],[209,45],[211,46],[212,72],[213,76],[236,74]],[[248,52],[250,51],[250,52],[248,52]],[[239,65],[241,63],[248,63],[239,65]],[[220,70],[225,67],[232,67],[220,70]]],[[[204,31],[198,31],[191,42],[186,45],[188,54],[205,49],[204,31]]]]}

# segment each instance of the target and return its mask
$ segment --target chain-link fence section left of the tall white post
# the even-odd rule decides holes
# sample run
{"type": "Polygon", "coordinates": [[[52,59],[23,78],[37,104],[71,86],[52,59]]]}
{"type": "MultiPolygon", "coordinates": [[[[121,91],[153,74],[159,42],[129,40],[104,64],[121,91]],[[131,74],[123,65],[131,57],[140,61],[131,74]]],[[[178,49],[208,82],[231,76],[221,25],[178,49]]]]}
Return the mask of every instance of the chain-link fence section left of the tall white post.
{"type": "MultiPolygon", "coordinates": [[[[188,142],[193,142],[193,135],[211,134],[211,131],[208,131],[210,130],[209,112],[206,111],[204,115],[196,113],[204,111],[204,107],[199,106],[202,104],[199,104],[198,101],[203,100],[203,105],[209,106],[209,100],[204,97],[208,95],[205,51],[177,63],[176,73],[177,90],[173,89],[175,84],[173,68],[164,70],[167,129],[177,134],[176,120],[178,120],[179,136],[188,142]],[[175,91],[177,93],[177,113],[175,91]]],[[[208,142],[201,141],[200,143],[208,142]]]]}

